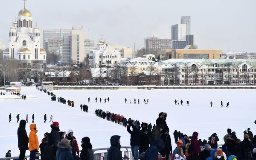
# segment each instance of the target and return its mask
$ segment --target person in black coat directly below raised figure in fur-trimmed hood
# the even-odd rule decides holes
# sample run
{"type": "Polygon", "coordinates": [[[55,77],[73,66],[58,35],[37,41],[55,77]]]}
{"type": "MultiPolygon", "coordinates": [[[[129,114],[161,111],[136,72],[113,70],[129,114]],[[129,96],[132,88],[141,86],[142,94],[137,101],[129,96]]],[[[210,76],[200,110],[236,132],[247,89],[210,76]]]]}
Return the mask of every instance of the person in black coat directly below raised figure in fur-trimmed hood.
{"type": "Polygon", "coordinates": [[[162,157],[166,157],[166,160],[169,160],[169,154],[172,154],[172,142],[171,142],[171,136],[168,134],[167,131],[163,131],[161,134],[161,139],[164,143],[164,148],[161,150],[162,157]]]}

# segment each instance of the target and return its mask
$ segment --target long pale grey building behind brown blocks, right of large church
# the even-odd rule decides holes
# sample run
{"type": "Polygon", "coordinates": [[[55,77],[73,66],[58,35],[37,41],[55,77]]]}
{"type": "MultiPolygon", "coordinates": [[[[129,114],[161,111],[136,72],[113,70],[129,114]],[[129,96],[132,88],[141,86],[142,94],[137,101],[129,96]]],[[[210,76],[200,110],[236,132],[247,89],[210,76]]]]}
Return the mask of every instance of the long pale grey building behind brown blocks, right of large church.
{"type": "Polygon", "coordinates": [[[43,31],[43,44],[47,49],[47,43],[49,38],[61,38],[70,36],[71,29],[45,29],[43,31]]]}

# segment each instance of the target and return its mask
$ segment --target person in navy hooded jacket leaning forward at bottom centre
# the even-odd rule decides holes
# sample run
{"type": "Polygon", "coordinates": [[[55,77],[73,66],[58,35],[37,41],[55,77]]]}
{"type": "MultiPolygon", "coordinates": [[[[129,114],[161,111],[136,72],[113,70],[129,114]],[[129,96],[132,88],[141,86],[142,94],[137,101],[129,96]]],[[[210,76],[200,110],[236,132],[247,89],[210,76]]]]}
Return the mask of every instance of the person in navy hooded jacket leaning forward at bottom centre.
{"type": "Polygon", "coordinates": [[[163,140],[157,139],[152,146],[148,148],[145,153],[144,160],[157,160],[159,150],[163,149],[164,143],[163,140]]]}

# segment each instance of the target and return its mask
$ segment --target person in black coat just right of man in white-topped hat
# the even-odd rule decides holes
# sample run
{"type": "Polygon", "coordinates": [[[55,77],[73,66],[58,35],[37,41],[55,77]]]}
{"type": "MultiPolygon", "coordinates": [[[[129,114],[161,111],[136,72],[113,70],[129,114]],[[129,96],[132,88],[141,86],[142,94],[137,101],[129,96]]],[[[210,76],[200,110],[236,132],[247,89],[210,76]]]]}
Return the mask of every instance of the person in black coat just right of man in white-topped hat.
{"type": "Polygon", "coordinates": [[[83,137],[81,141],[82,150],[80,153],[81,160],[93,160],[93,146],[89,137],[83,137]]]}

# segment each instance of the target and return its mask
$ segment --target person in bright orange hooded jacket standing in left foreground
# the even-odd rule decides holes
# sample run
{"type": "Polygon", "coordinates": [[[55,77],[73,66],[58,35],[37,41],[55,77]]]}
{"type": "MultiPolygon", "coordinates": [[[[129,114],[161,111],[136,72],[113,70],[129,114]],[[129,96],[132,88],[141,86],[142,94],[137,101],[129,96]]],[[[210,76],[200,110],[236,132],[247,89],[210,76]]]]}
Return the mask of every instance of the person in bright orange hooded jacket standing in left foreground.
{"type": "Polygon", "coordinates": [[[29,151],[30,156],[29,160],[35,160],[35,154],[38,152],[39,145],[38,145],[38,137],[36,133],[38,130],[36,130],[36,124],[32,123],[30,126],[30,133],[29,133],[29,151]]]}

